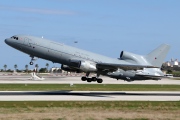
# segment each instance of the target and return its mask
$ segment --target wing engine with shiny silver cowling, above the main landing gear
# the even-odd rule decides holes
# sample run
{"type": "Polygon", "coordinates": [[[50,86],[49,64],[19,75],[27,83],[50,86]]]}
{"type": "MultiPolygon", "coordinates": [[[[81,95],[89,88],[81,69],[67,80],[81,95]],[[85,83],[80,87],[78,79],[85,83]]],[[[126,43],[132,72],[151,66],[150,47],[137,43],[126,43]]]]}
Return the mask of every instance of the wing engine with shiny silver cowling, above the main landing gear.
{"type": "Polygon", "coordinates": [[[80,60],[69,60],[69,66],[80,69],[84,72],[95,72],[97,71],[96,64],[89,61],[80,60]]]}

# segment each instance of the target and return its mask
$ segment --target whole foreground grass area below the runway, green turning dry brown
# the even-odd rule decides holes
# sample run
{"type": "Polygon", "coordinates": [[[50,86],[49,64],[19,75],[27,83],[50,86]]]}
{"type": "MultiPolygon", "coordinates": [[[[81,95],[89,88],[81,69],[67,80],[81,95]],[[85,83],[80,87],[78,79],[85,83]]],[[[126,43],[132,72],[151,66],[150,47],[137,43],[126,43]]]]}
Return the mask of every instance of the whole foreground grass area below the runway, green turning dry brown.
{"type": "Polygon", "coordinates": [[[13,120],[178,120],[180,101],[0,102],[0,119],[13,120]]]}

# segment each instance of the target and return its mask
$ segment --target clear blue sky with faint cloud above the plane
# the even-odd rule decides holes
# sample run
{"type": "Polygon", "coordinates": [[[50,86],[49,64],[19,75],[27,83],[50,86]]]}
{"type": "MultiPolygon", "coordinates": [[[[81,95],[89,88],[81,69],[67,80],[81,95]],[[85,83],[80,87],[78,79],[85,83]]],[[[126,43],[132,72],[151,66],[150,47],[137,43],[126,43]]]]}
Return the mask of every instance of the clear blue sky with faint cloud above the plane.
{"type": "MultiPolygon", "coordinates": [[[[0,0],[0,69],[29,65],[27,54],[4,43],[16,34],[43,36],[112,58],[122,50],[145,55],[165,43],[171,45],[165,61],[180,60],[179,6],[179,0],[0,0]]],[[[60,67],[43,59],[34,64],[46,63],[60,67]]]]}

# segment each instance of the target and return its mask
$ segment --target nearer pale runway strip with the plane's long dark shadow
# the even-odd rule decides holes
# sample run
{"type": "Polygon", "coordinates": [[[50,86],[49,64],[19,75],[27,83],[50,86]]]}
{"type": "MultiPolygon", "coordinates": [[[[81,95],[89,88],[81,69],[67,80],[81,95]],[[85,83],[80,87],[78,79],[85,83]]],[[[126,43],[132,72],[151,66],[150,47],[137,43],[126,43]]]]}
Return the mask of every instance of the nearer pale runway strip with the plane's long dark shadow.
{"type": "Polygon", "coordinates": [[[180,92],[0,91],[0,101],[180,101],[180,92]]]}

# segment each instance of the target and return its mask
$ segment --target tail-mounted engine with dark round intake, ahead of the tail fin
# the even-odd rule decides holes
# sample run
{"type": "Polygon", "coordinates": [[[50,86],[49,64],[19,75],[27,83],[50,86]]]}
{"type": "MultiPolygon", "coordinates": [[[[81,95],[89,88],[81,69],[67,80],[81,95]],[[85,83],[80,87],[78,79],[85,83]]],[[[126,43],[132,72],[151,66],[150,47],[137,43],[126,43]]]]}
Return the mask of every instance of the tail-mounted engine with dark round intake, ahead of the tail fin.
{"type": "Polygon", "coordinates": [[[141,64],[141,65],[149,64],[143,55],[137,55],[137,54],[126,52],[126,51],[121,52],[120,59],[131,62],[131,63],[141,64]]]}

